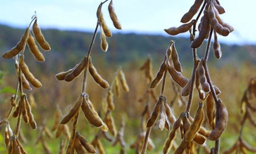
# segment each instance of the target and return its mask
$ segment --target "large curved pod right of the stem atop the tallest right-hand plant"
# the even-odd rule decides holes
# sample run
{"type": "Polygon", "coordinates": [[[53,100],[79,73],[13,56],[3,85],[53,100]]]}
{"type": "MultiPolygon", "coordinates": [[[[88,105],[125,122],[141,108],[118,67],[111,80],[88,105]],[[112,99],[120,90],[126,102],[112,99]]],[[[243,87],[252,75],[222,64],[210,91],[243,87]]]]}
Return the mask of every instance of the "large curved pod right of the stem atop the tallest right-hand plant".
{"type": "Polygon", "coordinates": [[[220,23],[218,23],[218,20],[216,19],[215,13],[213,11],[213,5],[211,4],[208,12],[207,12],[207,16],[209,18],[209,23],[211,25],[211,27],[216,30],[216,32],[222,36],[228,36],[228,34],[230,33],[229,29],[226,27],[223,27],[222,25],[220,25],[220,23]]]}

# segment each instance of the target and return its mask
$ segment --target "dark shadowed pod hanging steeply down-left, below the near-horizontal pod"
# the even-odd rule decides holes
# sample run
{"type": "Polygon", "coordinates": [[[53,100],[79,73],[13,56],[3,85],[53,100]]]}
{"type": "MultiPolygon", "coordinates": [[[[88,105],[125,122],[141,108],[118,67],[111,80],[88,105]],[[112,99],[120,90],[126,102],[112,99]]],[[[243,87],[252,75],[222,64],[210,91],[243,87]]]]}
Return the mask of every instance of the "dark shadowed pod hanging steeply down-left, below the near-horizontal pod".
{"type": "Polygon", "coordinates": [[[209,19],[207,17],[207,13],[204,12],[204,16],[202,17],[202,21],[201,21],[201,29],[199,31],[199,35],[196,39],[194,39],[190,47],[199,48],[201,44],[203,44],[204,39],[207,37],[209,30],[210,30],[209,19]]]}

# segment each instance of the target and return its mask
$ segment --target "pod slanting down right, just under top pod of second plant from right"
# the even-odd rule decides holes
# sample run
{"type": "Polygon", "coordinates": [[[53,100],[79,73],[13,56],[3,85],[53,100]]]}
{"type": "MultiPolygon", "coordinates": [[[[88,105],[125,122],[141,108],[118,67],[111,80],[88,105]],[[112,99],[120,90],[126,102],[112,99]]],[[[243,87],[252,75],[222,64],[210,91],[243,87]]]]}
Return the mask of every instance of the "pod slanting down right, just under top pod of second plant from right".
{"type": "Polygon", "coordinates": [[[188,79],[185,78],[180,72],[176,71],[173,66],[168,68],[168,72],[173,78],[173,80],[178,83],[181,87],[185,87],[187,85],[188,79]]]}

